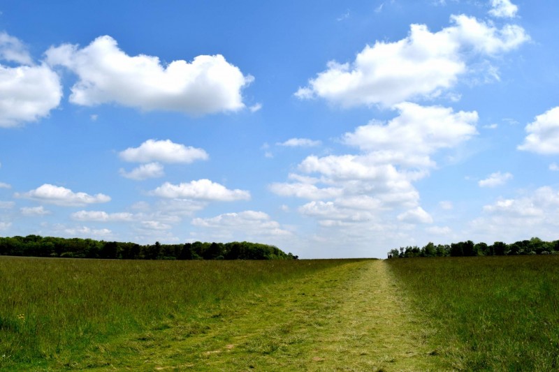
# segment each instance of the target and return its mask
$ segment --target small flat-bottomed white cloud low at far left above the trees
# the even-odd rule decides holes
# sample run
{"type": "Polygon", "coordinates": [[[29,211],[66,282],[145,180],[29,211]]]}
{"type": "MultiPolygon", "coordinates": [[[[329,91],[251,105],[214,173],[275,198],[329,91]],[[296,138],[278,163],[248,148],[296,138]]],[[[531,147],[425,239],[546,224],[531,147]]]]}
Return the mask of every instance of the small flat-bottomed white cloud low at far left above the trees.
{"type": "Polygon", "coordinates": [[[27,193],[15,193],[17,198],[27,198],[58,204],[63,206],[80,206],[93,203],[105,203],[110,201],[110,197],[104,194],[89,195],[87,193],[74,193],[69,188],[44,184],[35,190],[27,193]]]}

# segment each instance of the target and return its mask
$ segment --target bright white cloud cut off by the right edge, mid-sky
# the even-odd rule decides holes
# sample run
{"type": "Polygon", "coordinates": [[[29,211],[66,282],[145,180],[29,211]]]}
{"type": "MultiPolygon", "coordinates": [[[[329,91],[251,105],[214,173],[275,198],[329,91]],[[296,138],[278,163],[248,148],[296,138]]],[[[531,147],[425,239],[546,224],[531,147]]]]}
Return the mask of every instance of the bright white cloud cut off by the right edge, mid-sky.
{"type": "Polygon", "coordinates": [[[532,151],[537,154],[559,154],[559,107],[554,107],[538,115],[525,128],[528,136],[519,150],[532,151]]]}

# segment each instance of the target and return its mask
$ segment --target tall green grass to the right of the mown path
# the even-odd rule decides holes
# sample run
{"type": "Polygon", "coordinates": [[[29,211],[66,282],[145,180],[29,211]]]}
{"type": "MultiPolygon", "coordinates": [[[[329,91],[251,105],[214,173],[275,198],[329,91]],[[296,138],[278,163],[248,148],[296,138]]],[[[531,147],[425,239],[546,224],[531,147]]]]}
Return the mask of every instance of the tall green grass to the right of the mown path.
{"type": "Polygon", "coordinates": [[[469,371],[559,369],[559,256],[388,260],[469,371]]]}

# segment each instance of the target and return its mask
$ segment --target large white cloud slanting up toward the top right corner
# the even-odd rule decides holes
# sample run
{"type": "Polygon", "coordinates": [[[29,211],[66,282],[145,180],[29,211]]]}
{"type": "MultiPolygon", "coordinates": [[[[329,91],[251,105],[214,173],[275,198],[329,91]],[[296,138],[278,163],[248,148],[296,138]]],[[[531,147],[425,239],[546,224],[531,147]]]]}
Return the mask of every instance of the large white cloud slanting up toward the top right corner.
{"type": "Polygon", "coordinates": [[[296,96],[325,98],[342,107],[391,106],[436,96],[467,72],[473,55],[507,52],[529,40],[524,29],[514,24],[497,29],[466,15],[453,15],[451,22],[452,26],[435,33],[424,24],[412,24],[407,38],[367,45],[351,64],[331,61],[296,96]]]}

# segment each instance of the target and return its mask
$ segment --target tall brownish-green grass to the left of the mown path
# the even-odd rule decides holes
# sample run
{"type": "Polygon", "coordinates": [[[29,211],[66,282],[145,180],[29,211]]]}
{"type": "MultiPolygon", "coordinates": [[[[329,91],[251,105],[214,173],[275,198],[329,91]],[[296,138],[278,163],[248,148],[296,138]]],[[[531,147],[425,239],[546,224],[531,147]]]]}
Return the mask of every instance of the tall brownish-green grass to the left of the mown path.
{"type": "Polygon", "coordinates": [[[185,321],[196,308],[336,260],[138,261],[0,257],[0,369],[185,321]]]}

